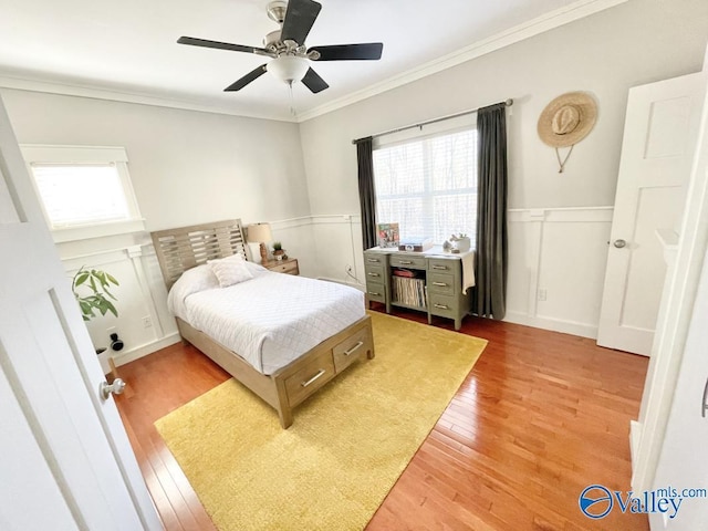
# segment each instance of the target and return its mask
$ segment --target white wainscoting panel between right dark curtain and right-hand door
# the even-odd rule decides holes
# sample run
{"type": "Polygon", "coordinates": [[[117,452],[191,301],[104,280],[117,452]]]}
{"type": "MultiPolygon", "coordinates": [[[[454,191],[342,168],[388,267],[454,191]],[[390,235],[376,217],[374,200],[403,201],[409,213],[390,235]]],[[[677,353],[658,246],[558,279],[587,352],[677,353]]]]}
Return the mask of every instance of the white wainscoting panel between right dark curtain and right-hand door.
{"type": "Polygon", "coordinates": [[[612,207],[509,211],[507,321],[597,336],[612,207]]]}

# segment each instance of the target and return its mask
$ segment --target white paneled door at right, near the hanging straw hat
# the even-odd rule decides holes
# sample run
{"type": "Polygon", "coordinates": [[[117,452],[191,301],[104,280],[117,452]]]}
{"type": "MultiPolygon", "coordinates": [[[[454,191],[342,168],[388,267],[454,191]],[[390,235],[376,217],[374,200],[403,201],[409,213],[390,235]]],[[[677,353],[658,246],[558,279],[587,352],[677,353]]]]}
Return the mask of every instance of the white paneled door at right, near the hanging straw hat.
{"type": "Polygon", "coordinates": [[[597,344],[649,355],[702,104],[701,74],[629,90],[597,344]]]}

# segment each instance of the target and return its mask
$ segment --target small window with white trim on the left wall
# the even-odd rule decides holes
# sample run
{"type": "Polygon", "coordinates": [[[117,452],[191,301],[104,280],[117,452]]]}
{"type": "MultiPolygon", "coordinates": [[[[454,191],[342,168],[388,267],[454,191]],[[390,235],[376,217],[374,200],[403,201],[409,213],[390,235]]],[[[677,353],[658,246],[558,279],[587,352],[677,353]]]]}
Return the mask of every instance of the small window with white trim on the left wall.
{"type": "Polygon", "coordinates": [[[121,147],[22,146],[55,241],[144,230],[121,147]]]}

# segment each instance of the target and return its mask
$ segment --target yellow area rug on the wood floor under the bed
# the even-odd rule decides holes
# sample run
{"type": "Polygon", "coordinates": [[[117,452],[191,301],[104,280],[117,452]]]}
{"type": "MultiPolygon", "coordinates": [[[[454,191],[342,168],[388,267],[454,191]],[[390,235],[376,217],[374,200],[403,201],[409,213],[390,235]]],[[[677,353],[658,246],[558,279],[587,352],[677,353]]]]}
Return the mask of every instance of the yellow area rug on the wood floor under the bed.
{"type": "Polygon", "coordinates": [[[294,410],[230,379],[155,423],[220,531],[360,530],[487,342],[371,312],[376,357],[294,410]]]}

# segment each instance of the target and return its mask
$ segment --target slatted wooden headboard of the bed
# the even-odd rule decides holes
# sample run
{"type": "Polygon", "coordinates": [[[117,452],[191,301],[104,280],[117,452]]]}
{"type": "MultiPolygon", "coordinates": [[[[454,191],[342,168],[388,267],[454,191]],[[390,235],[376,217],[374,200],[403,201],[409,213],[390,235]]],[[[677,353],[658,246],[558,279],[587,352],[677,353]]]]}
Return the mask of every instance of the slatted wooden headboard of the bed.
{"type": "Polygon", "coordinates": [[[237,253],[251,259],[240,219],[158,230],[150,236],[168,290],[181,273],[207,260],[237,253]]]}

